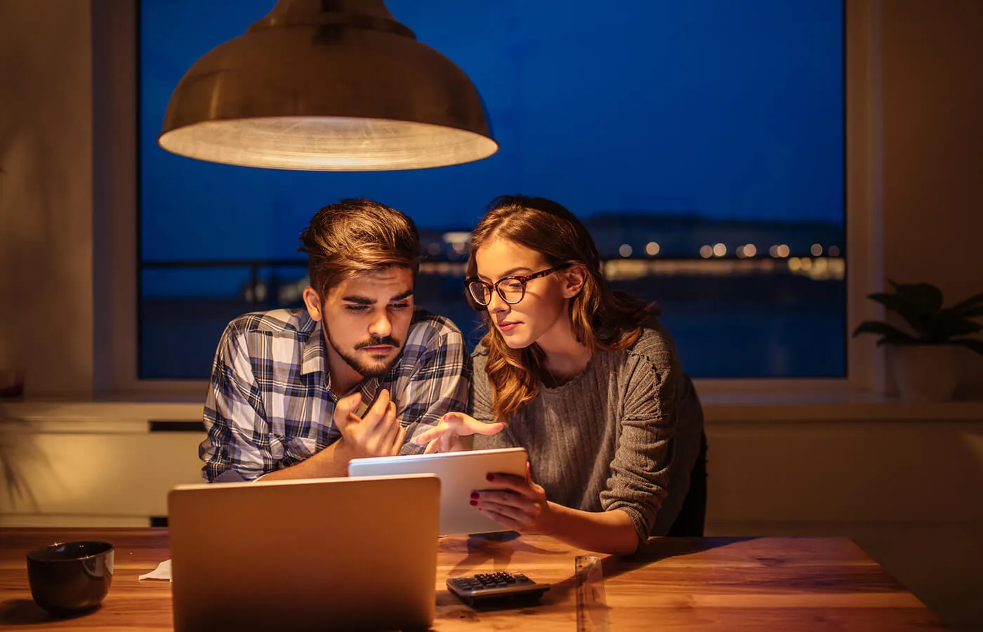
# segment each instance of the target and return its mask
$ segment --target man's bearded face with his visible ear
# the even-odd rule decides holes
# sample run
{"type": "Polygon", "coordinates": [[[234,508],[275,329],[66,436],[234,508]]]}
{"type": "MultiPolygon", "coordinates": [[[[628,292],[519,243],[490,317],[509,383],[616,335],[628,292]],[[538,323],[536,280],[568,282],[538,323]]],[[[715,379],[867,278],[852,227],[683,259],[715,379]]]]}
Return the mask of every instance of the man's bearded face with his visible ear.
{"type": "Polygon", "coordinates": [[[413,271],[389,267],[357,274],[328,290],[322,306],[310,287],[304,299],[308,313],[323,326],[329,370],[343,371],[340,360],[363,377],[377,377],[392,367],[406,342],[413,271]]]}

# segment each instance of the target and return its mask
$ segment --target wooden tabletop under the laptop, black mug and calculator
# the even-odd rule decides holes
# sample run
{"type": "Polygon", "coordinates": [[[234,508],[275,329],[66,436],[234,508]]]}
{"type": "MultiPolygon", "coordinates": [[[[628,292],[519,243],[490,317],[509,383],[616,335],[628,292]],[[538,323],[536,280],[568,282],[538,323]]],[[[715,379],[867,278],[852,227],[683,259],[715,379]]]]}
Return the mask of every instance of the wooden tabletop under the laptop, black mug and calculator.
{"type": "MultiPolygon", "coordinates": [[[[436,630],[576,630],[574,556],[555,540],[445,538],[437,556],[436,630]],[[521,571],[553,585],[541,605],[475,611],[443,588],[448,576],[521,571]]],[[[0,627],[170,629],[167,582],[138,581],[170,556],[166,529],[0,529],[0,627]],[[105,540],[115,576],[102,607],[50,618],[30,599],[25,554],[54,541],[105,540]]],[[[941,630],[938,618],[849,540],[653,539],[634,558],[603,561],[607,618],[624,630],[941,630]]]]}

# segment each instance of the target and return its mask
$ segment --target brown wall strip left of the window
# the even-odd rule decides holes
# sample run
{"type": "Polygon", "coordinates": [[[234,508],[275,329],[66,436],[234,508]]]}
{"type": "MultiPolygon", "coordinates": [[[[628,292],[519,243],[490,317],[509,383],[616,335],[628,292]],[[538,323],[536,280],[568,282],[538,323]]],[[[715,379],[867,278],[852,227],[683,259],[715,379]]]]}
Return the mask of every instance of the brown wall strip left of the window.
{"type": "Polygon", "coordinates": [[[89,3],[0,4],[0,369],[91,394],[89,3]]]}

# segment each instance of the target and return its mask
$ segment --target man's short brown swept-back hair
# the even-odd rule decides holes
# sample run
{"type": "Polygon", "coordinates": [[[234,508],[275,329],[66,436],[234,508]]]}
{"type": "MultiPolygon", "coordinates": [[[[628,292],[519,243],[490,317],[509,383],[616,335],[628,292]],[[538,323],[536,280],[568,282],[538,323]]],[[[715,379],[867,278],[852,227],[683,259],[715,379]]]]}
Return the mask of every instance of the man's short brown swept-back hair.
{"type": "Polygon", "coordinates": [[[324,206],[301,233],[311,285],[324,301],[343,280],[387,267],[420,269],[420,233],[405,213],[377,201],[352,198],[324,206]]]}

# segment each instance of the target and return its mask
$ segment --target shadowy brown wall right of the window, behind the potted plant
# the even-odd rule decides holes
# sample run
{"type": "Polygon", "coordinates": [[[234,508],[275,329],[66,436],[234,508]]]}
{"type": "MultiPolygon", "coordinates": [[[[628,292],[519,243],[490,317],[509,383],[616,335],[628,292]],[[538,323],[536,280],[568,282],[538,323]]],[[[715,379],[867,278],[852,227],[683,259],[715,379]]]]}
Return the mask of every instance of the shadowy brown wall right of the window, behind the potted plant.
{"type": "MultiPolygon", "coordinates": [[[[949,303],[983,292],[983,2],[881,3],[884,269],[938,284],[949,303]]],[[[983,357],[960,358],[983,397],[983,357]]]]}

